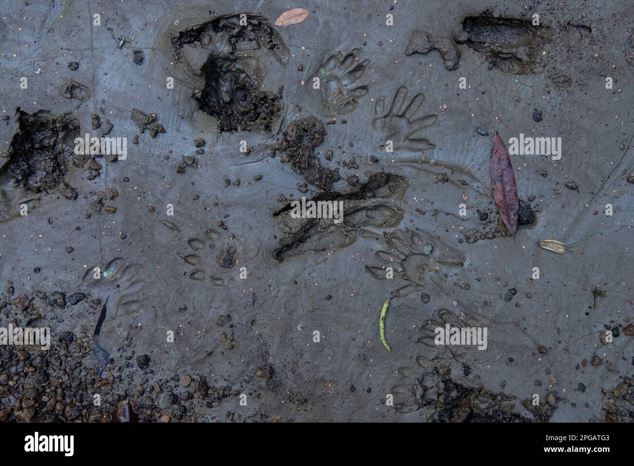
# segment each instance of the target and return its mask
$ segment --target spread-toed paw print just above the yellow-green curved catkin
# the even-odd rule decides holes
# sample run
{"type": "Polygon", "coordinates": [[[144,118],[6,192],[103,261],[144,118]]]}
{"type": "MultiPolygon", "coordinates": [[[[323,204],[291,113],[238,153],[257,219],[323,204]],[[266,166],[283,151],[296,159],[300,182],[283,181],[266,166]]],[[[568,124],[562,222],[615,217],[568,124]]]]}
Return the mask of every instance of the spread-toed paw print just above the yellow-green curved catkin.
{"type": "Polygon", "coordinates": [[[413,292],[422,290],[426,283],[425,277],[438,275],[443,279],[448,278],[448,271],[453,268],[462,268],[467,260],[463,252],[448,245],[442,249],[437,248],[438,240],[427,235],[422,236],[407,228],[394,230],[392,233],[383,233],[385,242],[393,249],[392,252],[378,250],[375,256],[384,266],[365,266],[366,272],[378,280],[387,280],[387,267],[392,267],[395,276],[409,282],[392,292],[396,296],[407,296],[413,292]],[[395,251],[395,252],[394,252],[395,251]],[[435,254],[434,254],[435,253],[435,254]]]}

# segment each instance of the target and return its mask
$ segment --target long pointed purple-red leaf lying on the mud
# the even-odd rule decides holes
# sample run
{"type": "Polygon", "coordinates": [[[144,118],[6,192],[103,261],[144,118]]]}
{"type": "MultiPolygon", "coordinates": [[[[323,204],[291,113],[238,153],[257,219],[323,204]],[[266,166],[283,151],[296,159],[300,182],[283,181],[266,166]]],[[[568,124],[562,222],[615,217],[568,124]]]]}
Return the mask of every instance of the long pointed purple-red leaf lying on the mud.
{"type": "Polygon", "coordinates": [[[500,210],[500,217],[502,217],[508,231],[514,235],[519,216],[517,184],[515,184],[515,174],[511,160],[508,158],[507,148],[498,133],[495,133],[495,138],[493,138],[489,172],[491,173],[491,191],[493,191],[495,206],[500,210]]]}

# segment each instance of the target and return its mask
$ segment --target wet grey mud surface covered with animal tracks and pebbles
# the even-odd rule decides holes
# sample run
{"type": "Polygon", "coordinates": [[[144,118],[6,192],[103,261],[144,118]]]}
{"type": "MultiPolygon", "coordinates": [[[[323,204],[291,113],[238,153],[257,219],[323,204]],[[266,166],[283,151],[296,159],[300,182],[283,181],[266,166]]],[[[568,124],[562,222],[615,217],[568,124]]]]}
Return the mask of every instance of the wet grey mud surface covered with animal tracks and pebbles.
{"type": "Polygon", "coordinates": [[[296,7],[9,2],[0,422],[631,422],[631,8],[296,7]]]}

